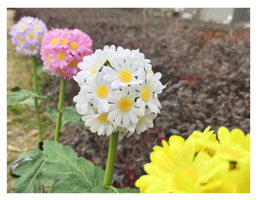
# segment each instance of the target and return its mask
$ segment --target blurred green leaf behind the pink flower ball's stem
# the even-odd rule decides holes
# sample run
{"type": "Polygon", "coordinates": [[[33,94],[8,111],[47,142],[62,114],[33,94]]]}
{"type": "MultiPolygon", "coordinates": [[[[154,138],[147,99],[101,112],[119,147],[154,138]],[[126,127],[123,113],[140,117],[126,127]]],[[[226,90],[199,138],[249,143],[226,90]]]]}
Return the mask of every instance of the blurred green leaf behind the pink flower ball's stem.
{"type": "MultiPolygon", "coordinates": [[[[48,106],[47,111],[50,113],[50,119],[53,122],[56,122],[58,111],[52,106],[48,106]]],[[[75,126],[76,124],[84,124],[81,118],[82,115],[77,113],[76,108],[64,107],[62,111],[61,128],[63,128],[65,124],[69,126],[75,126]]]]}

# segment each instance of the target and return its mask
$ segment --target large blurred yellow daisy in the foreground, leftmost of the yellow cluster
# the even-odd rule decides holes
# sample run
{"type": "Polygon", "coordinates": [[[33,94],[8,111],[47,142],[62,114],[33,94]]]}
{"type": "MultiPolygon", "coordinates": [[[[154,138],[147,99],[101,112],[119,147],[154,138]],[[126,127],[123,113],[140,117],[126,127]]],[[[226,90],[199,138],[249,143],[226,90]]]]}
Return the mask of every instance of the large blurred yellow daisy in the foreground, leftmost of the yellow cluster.
{"type": "Polygon", "coordinates": [[[153,148],[151,163],[144,165],[147,175],[135,183],[141,193],[203,193],[222,183],[216,174],[228,171],[228,165],[204,151],[196,153],[194,142],[171,136],[162,144],[153,148]]]}

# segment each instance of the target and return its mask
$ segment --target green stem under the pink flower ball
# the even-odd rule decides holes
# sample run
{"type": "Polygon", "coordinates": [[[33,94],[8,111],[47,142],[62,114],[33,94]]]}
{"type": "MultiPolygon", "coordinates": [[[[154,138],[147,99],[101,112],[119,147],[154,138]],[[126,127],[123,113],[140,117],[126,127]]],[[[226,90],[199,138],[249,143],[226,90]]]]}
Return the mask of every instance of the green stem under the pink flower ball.
{"type": "Polygon", "coordinates": [[[66,88],[66,79],[62,78],[61,88],[60,88],[60,97],[59,97],[59,103],[58,103],[56,129],[55,129],[55,136],[54,136],[54,141],[57,141],[57,142],[59,141],[59,136],[60,136],[61,117],[62,117],[62,110],[64,106],[65,88],[66,88]]]}

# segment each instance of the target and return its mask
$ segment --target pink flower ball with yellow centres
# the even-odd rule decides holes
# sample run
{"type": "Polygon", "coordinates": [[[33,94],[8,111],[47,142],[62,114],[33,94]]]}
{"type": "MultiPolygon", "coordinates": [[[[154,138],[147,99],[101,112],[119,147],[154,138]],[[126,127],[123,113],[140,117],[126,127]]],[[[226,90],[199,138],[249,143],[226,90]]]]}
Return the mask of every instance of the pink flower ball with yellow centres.
{"type": "Polygon", "coordinates": [[[83,57],[91,55],[91,38],[79,29],[52,28],[42,40],[41,59],[44,68],[64,79],[71,79],[80,69],[77,67],[83,57]]]}

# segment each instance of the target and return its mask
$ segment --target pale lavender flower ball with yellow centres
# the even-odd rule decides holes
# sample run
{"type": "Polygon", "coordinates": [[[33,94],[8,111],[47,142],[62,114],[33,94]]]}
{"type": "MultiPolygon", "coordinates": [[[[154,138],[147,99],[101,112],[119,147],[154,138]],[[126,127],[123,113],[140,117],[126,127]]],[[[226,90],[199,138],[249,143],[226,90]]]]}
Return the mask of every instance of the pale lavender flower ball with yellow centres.
{"type": "Polygon", "coordinates": [[[34,56],[40,52],[41,42],[47,31],[47,26],[42,20],[24,16],[11,28],[9,34],[18,53],[34,56]]]}

